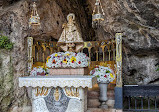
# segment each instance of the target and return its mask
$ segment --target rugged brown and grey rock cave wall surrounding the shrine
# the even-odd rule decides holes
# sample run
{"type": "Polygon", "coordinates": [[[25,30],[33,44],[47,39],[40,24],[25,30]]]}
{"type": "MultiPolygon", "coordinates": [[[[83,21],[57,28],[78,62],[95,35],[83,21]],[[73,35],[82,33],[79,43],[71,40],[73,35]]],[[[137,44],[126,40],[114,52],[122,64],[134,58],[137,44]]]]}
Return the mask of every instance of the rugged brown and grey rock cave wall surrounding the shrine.
{"type": "Polygon", "coordinates": [[[106,20],[96,36],[91,28],[94,2],[39,0],[41,30],[32,34],[28,28],[31,1],[0,1],[0,31],[14,43],[13,50],[0,51],[1,112],[31,111],[26,89],[18,87],[18,77],[26,75],[26,37],[58,39],[69,12],[75,13],[84,40],[103,40],[114,38],[116,32],[123,33],[124,84],[159,83],[159,73],[156,72],[159,64],[158,0],[101,0],[106,20]]]}

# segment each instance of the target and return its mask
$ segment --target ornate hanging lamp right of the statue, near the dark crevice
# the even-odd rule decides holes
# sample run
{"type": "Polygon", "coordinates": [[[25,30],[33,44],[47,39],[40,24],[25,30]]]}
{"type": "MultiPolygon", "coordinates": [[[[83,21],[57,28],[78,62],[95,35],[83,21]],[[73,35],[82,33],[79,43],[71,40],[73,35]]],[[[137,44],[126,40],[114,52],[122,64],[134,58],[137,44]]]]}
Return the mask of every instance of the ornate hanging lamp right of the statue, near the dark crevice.
{"type": "Polygon", "coordinates": [[[100,0],[96,0],[95,7],[92,14],[92,27],[99,28],[104,24],[104,10],[100,0]]]}

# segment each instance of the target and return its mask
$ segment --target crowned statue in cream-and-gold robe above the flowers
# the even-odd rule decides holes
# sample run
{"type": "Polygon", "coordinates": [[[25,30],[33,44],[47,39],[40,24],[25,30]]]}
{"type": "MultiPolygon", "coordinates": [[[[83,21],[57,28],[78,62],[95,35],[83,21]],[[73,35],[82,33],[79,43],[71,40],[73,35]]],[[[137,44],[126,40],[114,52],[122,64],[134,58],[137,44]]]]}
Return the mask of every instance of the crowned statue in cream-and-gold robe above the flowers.
{"type": "Polygon", "coordinates": [[[58,46],[64,51],[79,52],[83,47],[81,33],[75,23],[75,15],[70,13],[67,16],[68,23],[63,24],[63,32],[59,38],[58,46]]]}

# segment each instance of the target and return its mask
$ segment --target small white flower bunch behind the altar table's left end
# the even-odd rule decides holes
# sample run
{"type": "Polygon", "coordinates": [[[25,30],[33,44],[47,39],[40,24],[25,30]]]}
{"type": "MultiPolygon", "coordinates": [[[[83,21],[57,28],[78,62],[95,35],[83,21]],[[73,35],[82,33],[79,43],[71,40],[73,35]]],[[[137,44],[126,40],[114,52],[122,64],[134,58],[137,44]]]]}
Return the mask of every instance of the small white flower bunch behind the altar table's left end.
{"type": "Polygon", "coordinates": [[[37,76],[37,75],[45,76],[47,74],[48,74],[47,69],[44,67],[34,67],[33,70],[30,72],[30,76],[37,76]]]}

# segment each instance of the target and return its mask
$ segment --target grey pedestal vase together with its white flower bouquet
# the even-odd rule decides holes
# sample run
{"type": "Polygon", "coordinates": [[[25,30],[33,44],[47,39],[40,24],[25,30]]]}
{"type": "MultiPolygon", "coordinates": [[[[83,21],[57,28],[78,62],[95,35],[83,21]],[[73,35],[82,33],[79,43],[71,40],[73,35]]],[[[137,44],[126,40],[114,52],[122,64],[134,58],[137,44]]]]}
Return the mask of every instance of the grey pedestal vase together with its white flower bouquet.
{"type": "Polygon", "coordinates": [[[104,66],[96,66],[93,70],[90,71],[90,74],[97,77],[97,82],[100,89],[99,100],[102,102],[101,108],[108,108],[106,105],[107,86],[115,79],[113,70],[104,66]]]}

